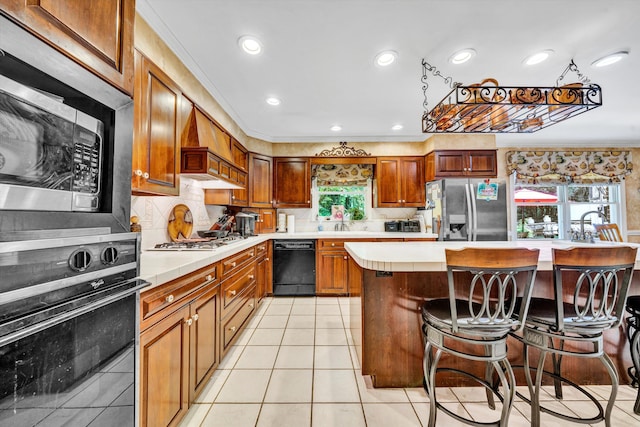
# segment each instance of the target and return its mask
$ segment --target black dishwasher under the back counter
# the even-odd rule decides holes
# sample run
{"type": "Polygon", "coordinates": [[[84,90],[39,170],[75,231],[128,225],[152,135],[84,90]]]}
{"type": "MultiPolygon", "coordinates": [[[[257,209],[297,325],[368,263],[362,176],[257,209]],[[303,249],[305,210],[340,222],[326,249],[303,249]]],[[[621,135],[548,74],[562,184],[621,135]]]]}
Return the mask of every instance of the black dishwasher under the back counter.
{"type": "Polygon", "coordinates": [[[273,241],[273,295],[316,294],[316,241],[273,241]]]}

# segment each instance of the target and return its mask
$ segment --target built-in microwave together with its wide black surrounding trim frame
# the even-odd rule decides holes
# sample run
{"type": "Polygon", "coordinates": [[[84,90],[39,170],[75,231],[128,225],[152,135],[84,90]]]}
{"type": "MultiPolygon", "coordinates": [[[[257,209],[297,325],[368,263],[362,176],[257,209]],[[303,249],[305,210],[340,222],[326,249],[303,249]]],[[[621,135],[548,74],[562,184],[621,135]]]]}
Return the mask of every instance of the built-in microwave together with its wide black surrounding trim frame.
{"type": "Polygon", "coordinates": [[[129,232],[131,97],[1,14],[0,51],[0,241],[129,232]]]}

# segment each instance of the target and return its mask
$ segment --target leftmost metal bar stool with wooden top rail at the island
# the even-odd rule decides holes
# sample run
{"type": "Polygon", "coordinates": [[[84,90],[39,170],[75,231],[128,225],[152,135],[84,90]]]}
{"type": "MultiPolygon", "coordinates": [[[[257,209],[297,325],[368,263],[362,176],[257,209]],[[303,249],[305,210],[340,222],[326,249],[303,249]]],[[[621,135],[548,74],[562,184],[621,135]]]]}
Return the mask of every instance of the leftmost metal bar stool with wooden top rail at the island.
{"type": "Polygon", "coordinates": [[[509,332],[520,330],[527,312],[538,266],[537,249],[446,249],[449,298],[428,300],[422,306],[425,338],[424,384],[429,395],[429,426],[436,425],[437,409],[470,425],[507,426],[515,397],[515,377],[507,359],[509,332]],[[458,292],[456,292],[458,289],[458,292]],[[438,369],[442,354],[486,363],[485,377],[452,368],[438,369]],[[465,375],[486,388],[489,406],[493,394],[502,401],[500,419],[493,423],[463,418],[442,406],[436,397],[436,372],[465,375]],[[493,373],[502,384],[493,386],[493,373]]]}

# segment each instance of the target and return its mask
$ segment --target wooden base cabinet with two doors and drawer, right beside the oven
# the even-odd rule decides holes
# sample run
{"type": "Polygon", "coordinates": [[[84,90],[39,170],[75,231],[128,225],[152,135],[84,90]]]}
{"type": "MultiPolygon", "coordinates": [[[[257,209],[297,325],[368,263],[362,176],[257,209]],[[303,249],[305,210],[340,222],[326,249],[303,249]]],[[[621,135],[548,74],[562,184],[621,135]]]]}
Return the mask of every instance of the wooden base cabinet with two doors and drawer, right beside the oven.
{"type": "Polygon", "coordinates": [[[219,265],[141,295],[140,425],[174,426],[220,362],[219,265]]]}

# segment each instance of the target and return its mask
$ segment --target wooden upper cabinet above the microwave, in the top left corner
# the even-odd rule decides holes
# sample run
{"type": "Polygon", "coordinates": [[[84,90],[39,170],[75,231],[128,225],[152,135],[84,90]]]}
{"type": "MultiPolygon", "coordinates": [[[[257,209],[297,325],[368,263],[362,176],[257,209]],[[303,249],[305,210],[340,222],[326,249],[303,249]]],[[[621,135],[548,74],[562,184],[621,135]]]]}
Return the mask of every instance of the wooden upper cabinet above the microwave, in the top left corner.
{"type": "Polygon", "coordinates": [[[2,0],[2,13],[133,95],[135,0],[2,0]]]}

